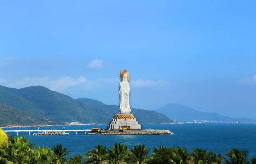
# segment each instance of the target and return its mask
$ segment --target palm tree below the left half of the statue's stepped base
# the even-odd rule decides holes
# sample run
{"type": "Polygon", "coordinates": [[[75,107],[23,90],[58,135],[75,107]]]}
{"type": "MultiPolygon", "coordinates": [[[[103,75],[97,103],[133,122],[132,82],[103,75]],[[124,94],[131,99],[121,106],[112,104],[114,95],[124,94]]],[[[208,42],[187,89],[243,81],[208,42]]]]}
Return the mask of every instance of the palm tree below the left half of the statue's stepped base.
{"type": "Polygon", "coordinates": [[[114,147],[110,146],[110,150],[107,154],[107,159],[110,163],[121,163],[128,156],[127,145],[115,143],[114,147]]]}

